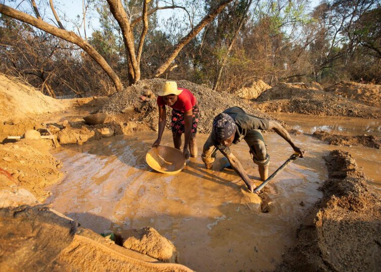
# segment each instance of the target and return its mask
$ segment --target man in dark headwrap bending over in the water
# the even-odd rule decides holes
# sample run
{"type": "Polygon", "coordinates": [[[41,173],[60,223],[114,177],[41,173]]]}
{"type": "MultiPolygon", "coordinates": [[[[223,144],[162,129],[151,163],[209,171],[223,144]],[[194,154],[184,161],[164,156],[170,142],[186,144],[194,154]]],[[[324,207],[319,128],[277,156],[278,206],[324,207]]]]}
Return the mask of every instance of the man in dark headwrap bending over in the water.
{"type": "Polygon", "coordinates": [[[213,120],[213,129],[204,145],[202,160],[207,169],[211,168],[215,160],[217,149],[228,158],[234,171],[245,182],[250,192],[255,190],[255,184],[249,179],[241,162],[230,151],[230,146],[245,140],[250,148],[250,154],[254,163],[258,164],[261,180],[265,181],[269,174],[270,156],[267,154],[265,140],[261,129],[274,129],[295,152],[304,157],[305,151],[297,147],[292,141],[290,134],[276,121],[268,121],[247,114],[239,107],[233,107],[218,114],[213,120]]]}

